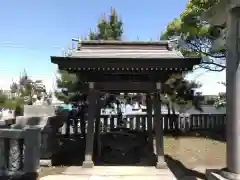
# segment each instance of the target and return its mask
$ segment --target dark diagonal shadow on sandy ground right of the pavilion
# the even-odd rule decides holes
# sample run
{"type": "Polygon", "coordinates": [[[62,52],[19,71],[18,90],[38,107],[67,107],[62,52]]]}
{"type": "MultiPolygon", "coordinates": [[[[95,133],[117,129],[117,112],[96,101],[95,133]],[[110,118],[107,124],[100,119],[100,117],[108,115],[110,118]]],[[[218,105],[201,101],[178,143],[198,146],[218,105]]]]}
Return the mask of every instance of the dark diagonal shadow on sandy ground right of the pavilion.
{"type": "Polygon", "coordinates": [[[180,161],[169,155],[165,155],[165,161],[178,180],[182,180],[184,177],[188,177],[189,180],[205,179],[205,174],[188,169],[180,161]]]}

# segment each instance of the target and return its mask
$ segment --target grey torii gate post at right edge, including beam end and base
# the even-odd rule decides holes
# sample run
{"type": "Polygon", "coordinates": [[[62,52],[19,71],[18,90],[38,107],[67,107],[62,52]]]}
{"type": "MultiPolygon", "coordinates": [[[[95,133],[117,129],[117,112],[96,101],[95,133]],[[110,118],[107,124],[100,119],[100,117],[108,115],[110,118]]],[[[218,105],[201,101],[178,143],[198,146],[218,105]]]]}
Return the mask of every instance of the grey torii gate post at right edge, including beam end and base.
{"type": "Polygon", "coordinates": [[[226,96],[227,96],[227,168],[221,171],[207,170],[208,179],[240,179],[240,2],[239,0],[220,0],[208,18],[212,25],[227,23],[226,36],[226,96]],[[225,3],[225,5],[224,5],[225,3]],[[223,14],[226,14],[223,16],[223,14]],[[218,22],[219,21],[219,22],[218,22]],[[223,176],[223,177],[222,177],[223,176]]]}

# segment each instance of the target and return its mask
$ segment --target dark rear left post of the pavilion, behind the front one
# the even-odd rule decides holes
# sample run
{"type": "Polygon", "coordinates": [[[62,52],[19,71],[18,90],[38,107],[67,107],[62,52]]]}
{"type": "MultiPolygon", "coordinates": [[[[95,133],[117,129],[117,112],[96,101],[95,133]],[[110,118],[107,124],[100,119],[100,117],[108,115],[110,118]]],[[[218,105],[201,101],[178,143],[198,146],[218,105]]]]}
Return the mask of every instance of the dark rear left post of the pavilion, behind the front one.
{"type": "Polygon", "coordinates": [[[100,93],[97,93],[97,106],[96,106],[96,121],[95,121],[95,149],[96,149],[96,160],[101,156],[101,142],[100,142],[100,125],[101,125],[101,99],[100,93]]]}

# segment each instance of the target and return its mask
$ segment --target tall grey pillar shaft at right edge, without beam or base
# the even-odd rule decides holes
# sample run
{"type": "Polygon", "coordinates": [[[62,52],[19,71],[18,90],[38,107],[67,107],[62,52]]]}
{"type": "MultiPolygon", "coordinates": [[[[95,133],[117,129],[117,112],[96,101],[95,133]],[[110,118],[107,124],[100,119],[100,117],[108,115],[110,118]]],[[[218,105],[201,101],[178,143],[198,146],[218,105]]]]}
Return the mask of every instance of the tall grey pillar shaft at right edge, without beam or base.
{"type": "MultiPolygon", "coordinates": [[[[227,19],[227,171],[240,174],[240,9],[229,11],[227,19]]],[[[228,177],[229,178],[229,177],[228,177]]],[[[240,179],[240,178],[239,178],[240,179]]]]}

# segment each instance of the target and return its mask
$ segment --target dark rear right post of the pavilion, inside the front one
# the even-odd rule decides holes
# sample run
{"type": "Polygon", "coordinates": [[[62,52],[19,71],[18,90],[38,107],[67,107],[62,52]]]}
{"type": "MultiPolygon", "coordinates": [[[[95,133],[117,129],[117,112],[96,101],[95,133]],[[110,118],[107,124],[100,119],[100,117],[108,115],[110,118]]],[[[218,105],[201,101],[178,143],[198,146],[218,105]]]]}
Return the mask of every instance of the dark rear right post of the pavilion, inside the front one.
{"type": "Polygon", "coordinates": [[[147,97],[146,97],[146,105],[147,105],[148,145],[149,145],[149,150],[153,152],[152,99],[149,93],[147,94],[147,97]]]}

